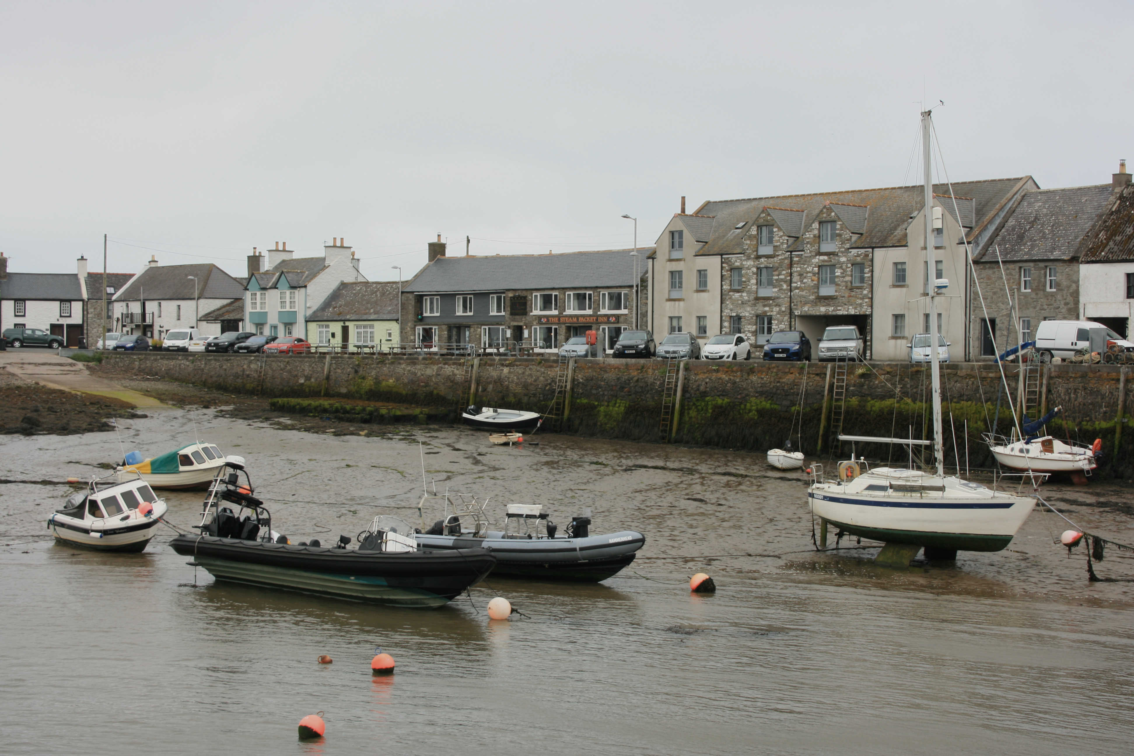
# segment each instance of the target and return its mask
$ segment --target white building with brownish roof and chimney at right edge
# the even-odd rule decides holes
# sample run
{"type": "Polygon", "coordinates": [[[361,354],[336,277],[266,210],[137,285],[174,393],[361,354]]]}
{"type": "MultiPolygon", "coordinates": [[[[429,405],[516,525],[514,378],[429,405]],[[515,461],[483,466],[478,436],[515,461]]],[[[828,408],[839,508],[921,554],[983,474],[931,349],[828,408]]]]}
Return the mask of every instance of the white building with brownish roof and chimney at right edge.
{"type": "Polygon", "coordinates": [[[1114,195],[1083,240],[1080,317],[1129,338],[1134,334],[1134,184],[1125,160],[1111,179],[1114,195]]]}

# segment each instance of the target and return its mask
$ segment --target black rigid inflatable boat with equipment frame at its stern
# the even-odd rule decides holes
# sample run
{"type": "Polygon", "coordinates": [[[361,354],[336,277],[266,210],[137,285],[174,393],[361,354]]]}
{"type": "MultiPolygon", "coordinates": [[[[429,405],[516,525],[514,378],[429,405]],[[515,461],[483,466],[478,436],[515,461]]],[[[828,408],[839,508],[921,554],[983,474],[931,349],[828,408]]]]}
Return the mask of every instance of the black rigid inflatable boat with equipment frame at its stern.
{"type": "Polygon", "coordinates": [[[178,535],[169,545],[218,580],[399,606],[441,606],[496,564],[486,549],[418,547],[413,528],[397,517],[375,517],[358,534],[357,549],[347,547],[345,535],[329,547],[293,544],[271,529],[271,513],[252,493],[244,460],[228,457],[195,526],[201,534],[178,535]]]}

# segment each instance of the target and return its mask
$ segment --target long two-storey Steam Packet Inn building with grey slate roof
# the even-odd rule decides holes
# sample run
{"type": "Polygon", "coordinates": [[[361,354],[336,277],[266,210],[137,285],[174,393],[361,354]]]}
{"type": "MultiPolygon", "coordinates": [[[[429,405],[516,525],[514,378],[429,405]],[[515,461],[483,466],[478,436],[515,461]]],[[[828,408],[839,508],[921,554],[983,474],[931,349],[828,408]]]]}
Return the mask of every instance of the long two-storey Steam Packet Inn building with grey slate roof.
{"type": "MultiPolygon", "coordinates": [[[[596,329],[610,351],[635,325],[634,249],[448,257],[445,243],[429,246],[429,263],[401,290],[404,345],[553,352],[596,329]]],[[[640,248],[638,260],[652,252],[640,248]]]]}

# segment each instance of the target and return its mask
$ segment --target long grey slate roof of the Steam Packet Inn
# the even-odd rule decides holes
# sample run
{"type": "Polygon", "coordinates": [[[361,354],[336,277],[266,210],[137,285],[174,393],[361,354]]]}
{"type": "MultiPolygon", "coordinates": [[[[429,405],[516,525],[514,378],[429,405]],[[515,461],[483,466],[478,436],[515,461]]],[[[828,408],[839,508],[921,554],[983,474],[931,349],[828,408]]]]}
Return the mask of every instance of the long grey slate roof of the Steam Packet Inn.
{"type": "MultiPolygon", "coordinates": [[[[653,246],[638,247],[638,271],[653,246]]],[[[566,252],[555,255],[438,257],[403,291],[503,291],[505,289],[606,288],[634,284],[633,249],[566,252]]]]}

